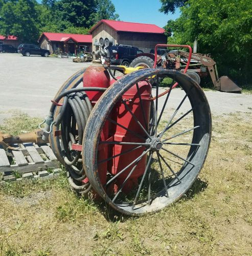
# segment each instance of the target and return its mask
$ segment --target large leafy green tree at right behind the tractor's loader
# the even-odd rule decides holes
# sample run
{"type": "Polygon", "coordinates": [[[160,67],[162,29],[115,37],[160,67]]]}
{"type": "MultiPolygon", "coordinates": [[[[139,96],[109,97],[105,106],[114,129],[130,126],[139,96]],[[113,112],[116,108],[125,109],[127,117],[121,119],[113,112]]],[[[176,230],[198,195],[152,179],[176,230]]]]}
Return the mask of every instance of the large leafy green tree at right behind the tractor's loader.
{"type": "Polygon", "coordinates": [[[211,53],[220,74],[251,81],[251,0],[188,0],[180,11],[165,27],[169,42],[192,45],[197,38],[198,52],[211,53]]]}

